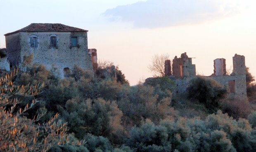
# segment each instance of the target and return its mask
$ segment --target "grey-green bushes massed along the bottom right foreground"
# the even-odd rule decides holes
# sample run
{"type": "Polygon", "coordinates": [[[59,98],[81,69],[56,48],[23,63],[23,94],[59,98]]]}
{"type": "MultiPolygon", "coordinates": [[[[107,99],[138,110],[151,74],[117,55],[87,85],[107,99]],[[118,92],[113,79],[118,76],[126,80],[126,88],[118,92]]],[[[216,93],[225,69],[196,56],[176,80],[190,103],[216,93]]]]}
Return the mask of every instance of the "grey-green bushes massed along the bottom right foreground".
{"type": "Polygon", "coordinates": [[[206,120],[180,118],[150,121],[130,131],[126,145],[136,152],[254,152],[254,133],[245,119],[235,121],[220,111],[206,120]]]}

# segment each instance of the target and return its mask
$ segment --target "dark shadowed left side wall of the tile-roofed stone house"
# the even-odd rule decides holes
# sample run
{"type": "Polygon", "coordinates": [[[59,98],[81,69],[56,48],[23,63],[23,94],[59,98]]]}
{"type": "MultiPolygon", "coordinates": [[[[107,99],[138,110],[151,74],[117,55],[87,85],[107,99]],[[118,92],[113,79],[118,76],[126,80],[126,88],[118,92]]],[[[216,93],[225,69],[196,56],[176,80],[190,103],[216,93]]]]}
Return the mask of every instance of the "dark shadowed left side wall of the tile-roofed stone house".
{"type": "Polygon", "coordinates": [[[11,66],[17,67],[21,61],[20,33],[5,36],[7,59],[11,66]]]}

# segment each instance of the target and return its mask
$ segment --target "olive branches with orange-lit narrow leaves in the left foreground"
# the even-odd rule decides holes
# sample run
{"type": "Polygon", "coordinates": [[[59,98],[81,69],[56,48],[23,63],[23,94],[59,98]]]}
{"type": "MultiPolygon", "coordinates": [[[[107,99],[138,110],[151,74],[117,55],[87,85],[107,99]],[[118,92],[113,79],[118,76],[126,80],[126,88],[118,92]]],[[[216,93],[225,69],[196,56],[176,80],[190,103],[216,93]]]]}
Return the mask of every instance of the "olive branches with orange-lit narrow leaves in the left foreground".
{"type": "MultiPolygon", "coordinates": [[[[17,86],[12,83],[16,71],[0,79],[0,151],[11,152],[46,152],[52,145],[63,146],[69,140],[66,134],[66,124],[59,120],[56,114],[52,119],[43,124],[36,124],[42,114],[34,119],[24,117],[24,113],[38,103],[41,85],[17,86]],[[15,98],[14,98],[15,96],[15,98]],[[17,109],[17,105],[27,97],[33,98],[33,103],[17,109]]],[[[83,142],[74,140],[76,145],[83,142]]]]}

